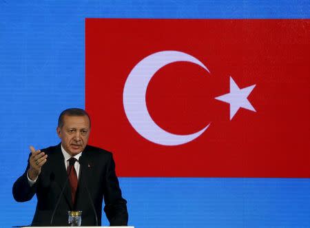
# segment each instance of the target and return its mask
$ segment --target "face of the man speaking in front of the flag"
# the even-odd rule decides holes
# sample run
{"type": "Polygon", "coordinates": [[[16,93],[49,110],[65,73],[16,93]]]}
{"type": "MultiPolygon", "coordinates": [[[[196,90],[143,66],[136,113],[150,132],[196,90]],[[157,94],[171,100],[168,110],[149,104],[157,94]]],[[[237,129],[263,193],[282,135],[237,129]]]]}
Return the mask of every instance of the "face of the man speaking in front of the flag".
{"type": "Polygon", "coordinates": [[[83,152],[90,136],[90,120],[87,116],[63,116],[63,127],[56,129],[63,149],[71,156],[83,152]]]}

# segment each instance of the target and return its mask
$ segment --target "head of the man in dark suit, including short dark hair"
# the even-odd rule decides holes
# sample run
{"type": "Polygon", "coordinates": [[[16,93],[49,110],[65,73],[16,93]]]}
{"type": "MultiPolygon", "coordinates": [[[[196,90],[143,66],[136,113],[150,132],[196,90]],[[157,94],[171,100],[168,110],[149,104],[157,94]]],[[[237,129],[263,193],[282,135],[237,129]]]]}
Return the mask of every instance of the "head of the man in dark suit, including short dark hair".
{"type": "Polygon", "coordinates": [[[56,132],[66,152],[71,156],[79,154],[90,136],[90,116],[79,108],[64,110],[59,115],[56,132]]]}

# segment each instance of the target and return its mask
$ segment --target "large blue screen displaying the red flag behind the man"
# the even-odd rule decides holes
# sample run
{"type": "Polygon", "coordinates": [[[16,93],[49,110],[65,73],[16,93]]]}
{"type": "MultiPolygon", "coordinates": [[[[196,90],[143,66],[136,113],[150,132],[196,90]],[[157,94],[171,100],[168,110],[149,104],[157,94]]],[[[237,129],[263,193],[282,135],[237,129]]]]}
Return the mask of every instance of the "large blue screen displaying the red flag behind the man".
{"type": "MultiPolygon", "coordinates": [[[[310,227],[305,1],[2,1],[0,227],[68,107],[116,161],[129,225],[310,227]]],[[[108,221],[103,215],[103,225],[108,221]]]]}

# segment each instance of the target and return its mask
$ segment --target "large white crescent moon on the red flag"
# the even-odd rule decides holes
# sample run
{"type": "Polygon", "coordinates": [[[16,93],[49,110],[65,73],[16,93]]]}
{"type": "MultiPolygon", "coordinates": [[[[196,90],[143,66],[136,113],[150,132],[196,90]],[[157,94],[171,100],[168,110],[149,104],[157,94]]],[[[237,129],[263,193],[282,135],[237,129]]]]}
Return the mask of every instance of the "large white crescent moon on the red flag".
{"type": "Polygon", "coordinates": [[[138,134],[160,145],[181,145],[203,134],[210,123],[194,134],[172,134],[159,127],[149,116],[145,101],[147,85],[152,76],[163,66],[177,61],[187,61],[200,65],[209,72],[194,56],[178,51],[163,51],[151,54],[134,66],[127,77],[123,91],[123,105],[130,124],[138,134]]]}

